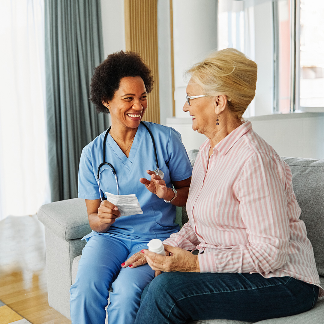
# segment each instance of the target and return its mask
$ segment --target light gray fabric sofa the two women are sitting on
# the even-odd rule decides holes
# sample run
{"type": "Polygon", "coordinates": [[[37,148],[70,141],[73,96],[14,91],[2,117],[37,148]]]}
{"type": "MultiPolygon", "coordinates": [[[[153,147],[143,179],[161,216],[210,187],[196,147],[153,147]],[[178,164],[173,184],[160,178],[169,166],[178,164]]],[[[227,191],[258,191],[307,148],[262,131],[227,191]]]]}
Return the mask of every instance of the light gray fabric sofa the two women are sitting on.
{"type": "MultiPolygon", "coordinates": [[[[198,150],[189,152],[193,165],[198,150]]],[[[324,160],[283,157],[293,174],[293,186],[297,201],[302,209],[301,219],[306,224],[324,287],[324,160]]],[[[46,266],[49,305],[70,318],[69,289],[75,281],[77,265],[85,241],[81,238],[88,234],[90,226],[87,219],[86,204],[83,199],[75,198],[41,206],[39,220],[45,225],[46,266]]],[[[185,208],[182,223],[188,221],[185,208]]],[[[235,320],[211,319],[191,321],[208,324],[247,324],[235,320]]],[[[308,312],[257,322],[258,324],[315,324],[324,323],[324,298],[308,312]]]]}

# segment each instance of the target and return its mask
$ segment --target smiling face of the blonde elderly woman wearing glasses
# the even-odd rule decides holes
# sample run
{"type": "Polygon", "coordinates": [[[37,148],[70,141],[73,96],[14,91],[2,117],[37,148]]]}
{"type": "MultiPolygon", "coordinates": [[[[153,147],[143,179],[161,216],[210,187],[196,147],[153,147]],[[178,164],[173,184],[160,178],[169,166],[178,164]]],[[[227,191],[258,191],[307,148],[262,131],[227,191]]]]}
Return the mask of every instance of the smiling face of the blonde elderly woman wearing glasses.
{"type": "MultiPolygon", "coordinates": [[[[188,96],[203,95],[203,88],[190,79],[186,88],[188,96]]],[[[215,108],[212,97],[191,99],[190,106],[187,101],[183,111],[189,111],[192,117],[192,129],[198,133],[206,134],[209,128],[214,129],[215,108]]]]}

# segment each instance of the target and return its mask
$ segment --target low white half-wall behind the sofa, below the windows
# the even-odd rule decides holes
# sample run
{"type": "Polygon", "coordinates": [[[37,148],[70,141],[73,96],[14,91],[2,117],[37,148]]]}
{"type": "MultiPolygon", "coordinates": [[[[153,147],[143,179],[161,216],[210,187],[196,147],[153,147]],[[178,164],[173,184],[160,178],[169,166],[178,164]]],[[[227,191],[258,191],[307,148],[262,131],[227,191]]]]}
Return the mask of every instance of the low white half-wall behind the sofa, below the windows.
{"type": "MultiPolygon", "coordinates": [[[[272,114],[248,120],[280,156],[324,158],[324,112],[272,114]]],[[[206,140],[192,130],[191,119],[169,118],[167,124],[180,132],[187,152],[198,149],[206,140]]]]}

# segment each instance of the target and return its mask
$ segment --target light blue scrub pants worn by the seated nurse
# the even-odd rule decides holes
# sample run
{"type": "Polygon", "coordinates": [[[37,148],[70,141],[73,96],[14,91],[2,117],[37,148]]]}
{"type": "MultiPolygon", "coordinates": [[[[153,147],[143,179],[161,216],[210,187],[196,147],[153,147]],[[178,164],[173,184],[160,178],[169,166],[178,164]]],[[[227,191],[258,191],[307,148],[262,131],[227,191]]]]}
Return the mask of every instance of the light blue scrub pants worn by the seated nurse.
{"type": "Polygon", "coordinates": [[[131,269],[121,268],[121,263],[147,249],[148,242],[109,234],[89,238],[70,289],[72,324],[104,324],[110,286],[108,323],[134,323],[143,289],[154,271],[147,264],[131,269]]]}

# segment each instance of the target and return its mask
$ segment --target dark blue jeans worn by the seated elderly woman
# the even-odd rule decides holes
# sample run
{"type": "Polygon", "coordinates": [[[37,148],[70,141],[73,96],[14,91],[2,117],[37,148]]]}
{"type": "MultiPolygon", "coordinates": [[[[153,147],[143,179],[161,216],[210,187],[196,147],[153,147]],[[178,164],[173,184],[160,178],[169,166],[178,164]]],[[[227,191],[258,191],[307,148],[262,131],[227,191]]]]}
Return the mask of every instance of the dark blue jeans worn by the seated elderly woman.
{"type": "Polygon", "coordinates": [[[311,309],[318,286],[259,273],[165,272],[145,287],[135,324],[180,324],[187,319],[256,322],[311,309]]]}

